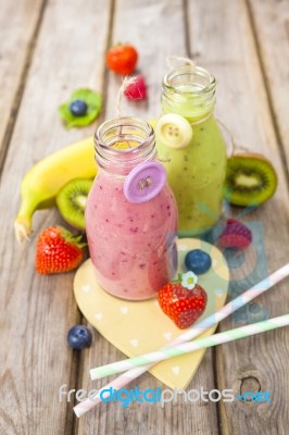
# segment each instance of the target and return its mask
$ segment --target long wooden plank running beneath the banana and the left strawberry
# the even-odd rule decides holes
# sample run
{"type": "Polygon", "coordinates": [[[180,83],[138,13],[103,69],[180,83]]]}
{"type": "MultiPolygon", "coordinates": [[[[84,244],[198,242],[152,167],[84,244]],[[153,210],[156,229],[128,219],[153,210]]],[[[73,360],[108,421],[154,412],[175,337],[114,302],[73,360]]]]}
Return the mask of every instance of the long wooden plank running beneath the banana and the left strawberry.
{"type": "MultiPolygon", "coordinates": [[[[80,321],[74,275],[34,272],[37,234],[62,221],[56,212],[37,213],[32,243],[20,247],[13,217],[24,173],[96,128],[95,123],[67,132],[58,107],[77,87],[102,87],[110,3],[103,5],[95,0],[48,2],[2,172],[0,433],[5,435],[73,431],[73,403],[59,403],[58,390],[62,384],[75,386],[78,357],[66,346],[68,328],[80,321]]],[[[18,25],[25,33],[25,22],[18,25]]]]}

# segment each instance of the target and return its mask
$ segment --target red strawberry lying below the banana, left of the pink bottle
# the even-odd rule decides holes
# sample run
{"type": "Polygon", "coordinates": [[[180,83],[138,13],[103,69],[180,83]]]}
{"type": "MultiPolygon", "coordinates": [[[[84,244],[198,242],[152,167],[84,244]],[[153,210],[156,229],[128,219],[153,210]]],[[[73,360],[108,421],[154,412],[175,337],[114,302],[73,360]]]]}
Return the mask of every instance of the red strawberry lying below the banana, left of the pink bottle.
{"type": "Polygon", "coordinates": [[[70,272],[77,268],[84,258],[80,244],[81,236],[73,237],[72,233],[62,226],[50,226],[45,229],[36,246],[35,268],[38,273],[70,272]]]}

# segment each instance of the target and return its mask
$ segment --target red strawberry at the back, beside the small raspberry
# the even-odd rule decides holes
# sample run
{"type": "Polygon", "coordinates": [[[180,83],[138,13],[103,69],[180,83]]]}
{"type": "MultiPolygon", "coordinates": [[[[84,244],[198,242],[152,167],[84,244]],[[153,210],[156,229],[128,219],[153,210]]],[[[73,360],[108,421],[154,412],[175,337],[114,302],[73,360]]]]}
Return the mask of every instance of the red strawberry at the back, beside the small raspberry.
{"type": "Polygon", "coordinates": [[[116,74],[129,75],[134,73],[137,61],[138,52],[129,45],[112,47],[106,53],[106,65],[116,74]]]}

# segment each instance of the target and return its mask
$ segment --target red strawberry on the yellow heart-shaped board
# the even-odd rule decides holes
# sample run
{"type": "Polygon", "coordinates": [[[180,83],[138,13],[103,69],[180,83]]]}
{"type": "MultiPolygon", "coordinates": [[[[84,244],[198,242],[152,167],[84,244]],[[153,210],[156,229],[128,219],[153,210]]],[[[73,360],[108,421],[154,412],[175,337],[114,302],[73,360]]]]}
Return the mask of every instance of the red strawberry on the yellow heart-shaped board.
{"type": "Polygon", "coordinates": [[[168,283],[159,291],[158,300],[163,312],[185,330],[204,312],[206,293],[198,284],[190,290],[180,283],[168,283]]]}

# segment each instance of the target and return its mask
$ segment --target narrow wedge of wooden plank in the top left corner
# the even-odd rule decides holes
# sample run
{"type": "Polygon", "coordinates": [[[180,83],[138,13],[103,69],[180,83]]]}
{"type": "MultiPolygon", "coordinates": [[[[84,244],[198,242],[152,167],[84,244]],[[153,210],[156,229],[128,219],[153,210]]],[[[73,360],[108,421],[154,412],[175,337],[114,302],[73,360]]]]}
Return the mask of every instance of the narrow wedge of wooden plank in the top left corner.
{"type": "Polygon", "coordinates": [[[15,122],[42,7],[43,0],[0,1],[0,167],[15,122]]]}

